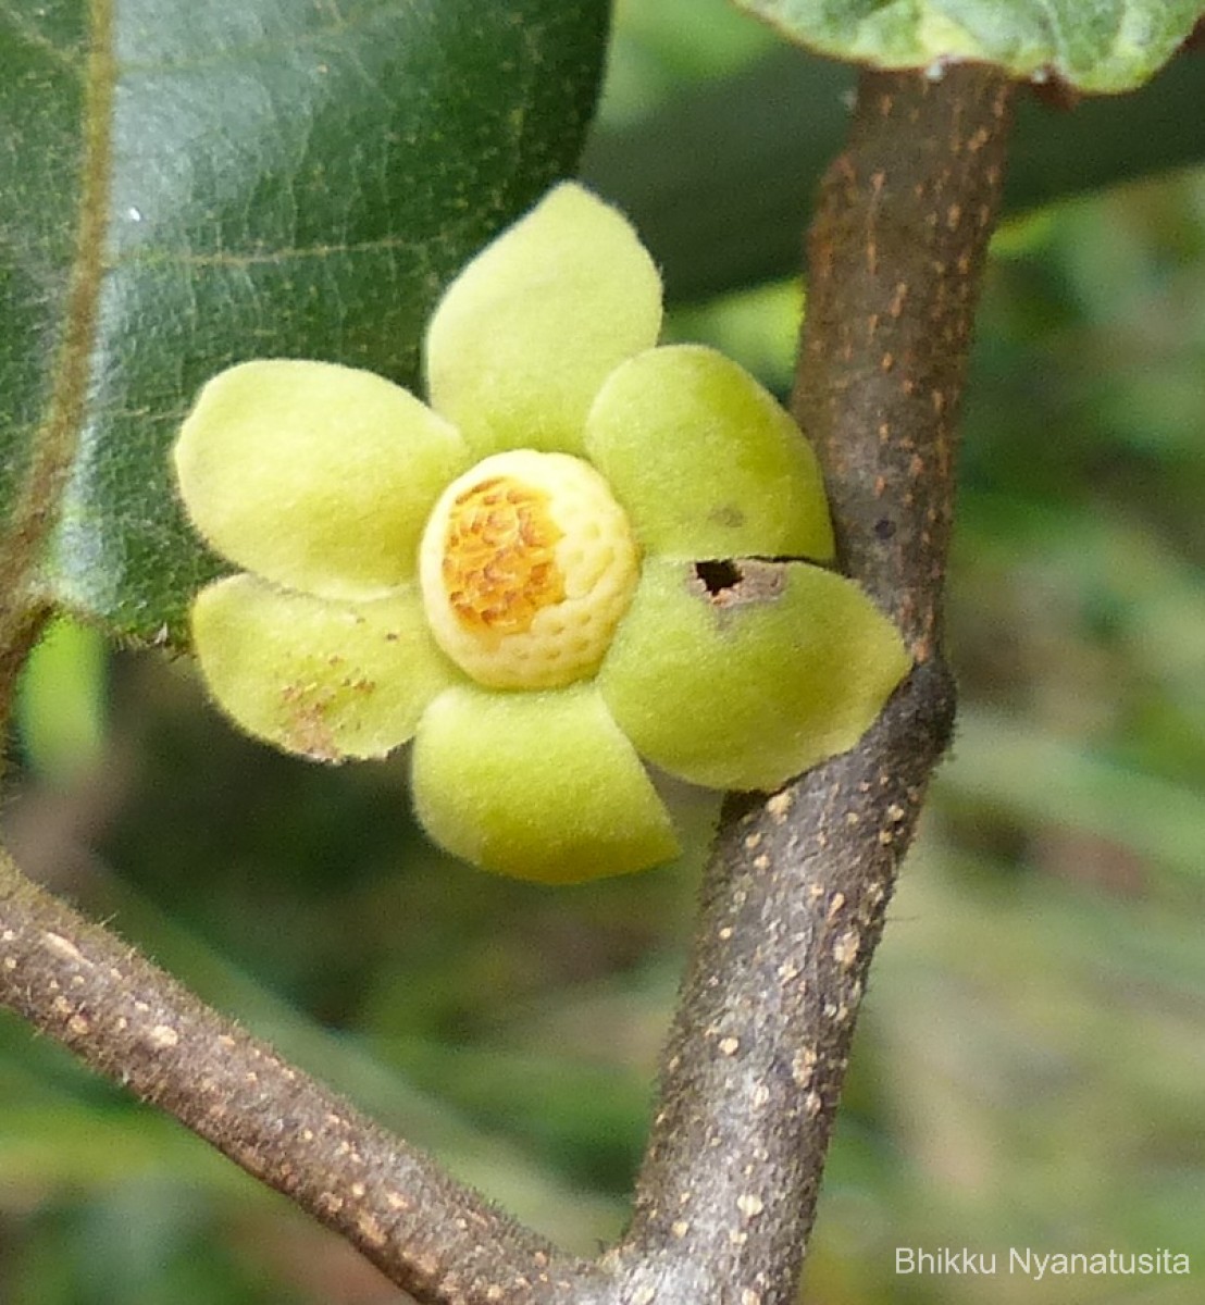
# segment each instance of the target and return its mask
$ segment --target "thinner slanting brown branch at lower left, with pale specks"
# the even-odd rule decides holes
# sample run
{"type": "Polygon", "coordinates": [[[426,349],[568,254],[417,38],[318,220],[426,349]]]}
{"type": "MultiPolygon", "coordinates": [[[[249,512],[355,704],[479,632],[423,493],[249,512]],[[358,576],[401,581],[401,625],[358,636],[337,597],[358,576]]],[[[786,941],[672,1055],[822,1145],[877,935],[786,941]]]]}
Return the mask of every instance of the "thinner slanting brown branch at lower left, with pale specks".
{"type": "Polygon", "coordinates": [[[419,1301],[564,1301],[590,1276],[3,852],[0,1004],[285,1193],[419,1301]]]}

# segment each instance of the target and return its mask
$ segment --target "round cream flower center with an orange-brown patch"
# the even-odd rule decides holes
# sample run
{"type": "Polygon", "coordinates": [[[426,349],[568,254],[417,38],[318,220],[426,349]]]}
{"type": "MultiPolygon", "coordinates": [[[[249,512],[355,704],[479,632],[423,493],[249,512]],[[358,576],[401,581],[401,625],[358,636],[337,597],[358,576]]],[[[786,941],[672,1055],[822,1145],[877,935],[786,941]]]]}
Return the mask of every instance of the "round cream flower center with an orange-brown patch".
{"type": "Polygon", "coordinates": [[[497,453],[435,505],[419,552],[436,643],[480,684],[591,675],[636,589],[638,556],[606,480],[564,453],[497,453]]]}

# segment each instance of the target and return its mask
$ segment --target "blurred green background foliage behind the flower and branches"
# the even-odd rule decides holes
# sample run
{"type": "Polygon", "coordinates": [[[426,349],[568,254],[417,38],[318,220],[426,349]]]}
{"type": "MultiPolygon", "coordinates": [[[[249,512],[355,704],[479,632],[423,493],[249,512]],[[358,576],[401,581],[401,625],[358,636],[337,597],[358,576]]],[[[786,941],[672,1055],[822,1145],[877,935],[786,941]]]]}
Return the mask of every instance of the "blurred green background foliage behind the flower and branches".
{"type": "MultiPolygon", "coordinates": [[[[774,44],[722,0],[620,4],[587,175],[621,177],[631,142],[680,129],[701,87],[774,44]]],[[[800,153],[821,145],[838,147],[800,153]]],[[[799,301],[790,281],[727,284],[670,333],[782,393],[799,301]]],[[[1007,223],[965,418],[962,720],[876,960],[808,1301],[1202,1298],[1202,435],[1205,170],[1007,223]],[[1168,1248],[1193,1275],[907,1278],[897,1246],[1168,1248]]],[[[26,869],[567,1245],[621,1227],[710,799],[681,796],[683,865],[547,890],[426,847],[402,761],[329,771],[238,737],[183,662],[63,628],[22,724],[3,821],[26,869]]],[[[398,1300],[0,1019],[0,1302],[398,1300]]]]}

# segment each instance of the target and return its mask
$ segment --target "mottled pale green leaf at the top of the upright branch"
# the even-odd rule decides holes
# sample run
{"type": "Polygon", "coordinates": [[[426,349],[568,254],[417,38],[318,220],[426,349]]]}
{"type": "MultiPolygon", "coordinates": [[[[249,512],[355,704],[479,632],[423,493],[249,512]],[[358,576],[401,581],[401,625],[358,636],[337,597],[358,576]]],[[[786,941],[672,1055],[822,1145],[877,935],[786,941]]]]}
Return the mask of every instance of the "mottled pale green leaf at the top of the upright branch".
{"type": "Polygon", "coordinates": [[[876,68],[975,60],[1082,91],[1132,90],[1201,18],[1200,0],[736,0],[821,54],[876,68]]]}

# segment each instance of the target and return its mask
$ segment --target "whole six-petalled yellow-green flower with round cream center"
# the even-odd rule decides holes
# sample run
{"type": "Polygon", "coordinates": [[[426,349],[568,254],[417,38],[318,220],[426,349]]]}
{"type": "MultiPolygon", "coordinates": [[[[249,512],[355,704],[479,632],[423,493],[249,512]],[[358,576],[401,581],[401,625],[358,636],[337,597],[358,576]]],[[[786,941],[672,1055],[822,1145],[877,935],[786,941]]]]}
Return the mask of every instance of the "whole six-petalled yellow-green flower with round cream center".
{"type": "Polygon", "coordinates": [[[825,565],[791,418],[659,330],[649,254],[567,183],[445,292],[430,407],[328,363],[209,381],[175,465],[242,568],[192,608],[222,710],[322,761],[414,739],[431,837],[546,882],[676,855],[644,761],[770,790],[853,746],[903,645],[825,565]]]}

